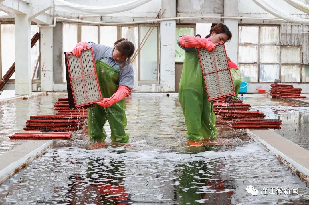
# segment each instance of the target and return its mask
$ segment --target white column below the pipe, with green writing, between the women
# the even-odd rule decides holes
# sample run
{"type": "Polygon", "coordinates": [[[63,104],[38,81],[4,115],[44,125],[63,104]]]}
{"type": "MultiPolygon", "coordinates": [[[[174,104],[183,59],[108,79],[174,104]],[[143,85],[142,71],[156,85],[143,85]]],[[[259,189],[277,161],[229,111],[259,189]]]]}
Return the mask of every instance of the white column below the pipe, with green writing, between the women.
{"type": "Polygon", "coordinates": [[[160,91],[175,91],[176,22],[160,23],[160,91]]]}

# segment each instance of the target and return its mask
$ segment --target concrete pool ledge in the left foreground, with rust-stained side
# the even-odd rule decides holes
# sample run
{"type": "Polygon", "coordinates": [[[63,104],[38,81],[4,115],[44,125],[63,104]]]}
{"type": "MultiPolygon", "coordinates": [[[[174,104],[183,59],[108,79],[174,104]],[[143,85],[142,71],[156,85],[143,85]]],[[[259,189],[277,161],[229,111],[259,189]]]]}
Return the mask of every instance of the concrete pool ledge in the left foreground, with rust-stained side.
{"type": "Polygon", "coordinates": [[[0,184],[19,170],[27,167],[33,159],[53,147],[57,140],[28,140],[0,155],[0,184]]]}

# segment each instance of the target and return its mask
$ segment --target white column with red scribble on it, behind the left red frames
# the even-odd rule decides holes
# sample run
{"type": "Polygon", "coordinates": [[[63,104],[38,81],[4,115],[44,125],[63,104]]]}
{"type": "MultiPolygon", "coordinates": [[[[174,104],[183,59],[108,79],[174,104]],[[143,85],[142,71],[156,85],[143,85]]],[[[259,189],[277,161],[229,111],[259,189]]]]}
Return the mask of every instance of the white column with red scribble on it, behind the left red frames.
{"type": "Polygon", "coordinates": [[[53,91],[53,27],[41,27],[41,88],[53,91]]]}

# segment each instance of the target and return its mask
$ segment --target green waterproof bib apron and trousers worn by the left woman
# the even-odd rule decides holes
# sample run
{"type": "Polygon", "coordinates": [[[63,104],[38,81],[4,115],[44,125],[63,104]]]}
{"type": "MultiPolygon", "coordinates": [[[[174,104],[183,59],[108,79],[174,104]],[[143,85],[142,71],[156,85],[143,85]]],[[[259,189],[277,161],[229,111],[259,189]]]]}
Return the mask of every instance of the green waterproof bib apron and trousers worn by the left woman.
{"type": "MultiPolygon", "coordinates": [[[[102,58],[101,58],[102,59],[102,58]]],[[[118,89],[118,71],[105,62],[95,62],[96,73],[102,97],[110,98],[118,89]]],[[[106,139],[104,124],[108,120],[111,127],[112,142],[127,143],[129,134],[125,133],[127,117],[125,115],[125,99],[114,103],[108,108],[95,105],[94,108],[87,108],[88,133],[90,141],[103,142],[106,139]]]]}

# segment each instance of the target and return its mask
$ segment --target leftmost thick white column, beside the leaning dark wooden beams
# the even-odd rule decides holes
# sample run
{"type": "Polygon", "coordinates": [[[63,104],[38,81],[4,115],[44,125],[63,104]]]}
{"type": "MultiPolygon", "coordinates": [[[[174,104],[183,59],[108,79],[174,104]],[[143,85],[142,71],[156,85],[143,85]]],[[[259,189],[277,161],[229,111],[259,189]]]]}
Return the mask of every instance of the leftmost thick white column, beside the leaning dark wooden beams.
{"type": "MultiPolygon", "coordinates": [[[[31,21],[27,14],[15,16],[15,94],[29,95],[32,90],[31,21]]],[[[3,59],[2,59],[3,60],[3,59]]]]}

